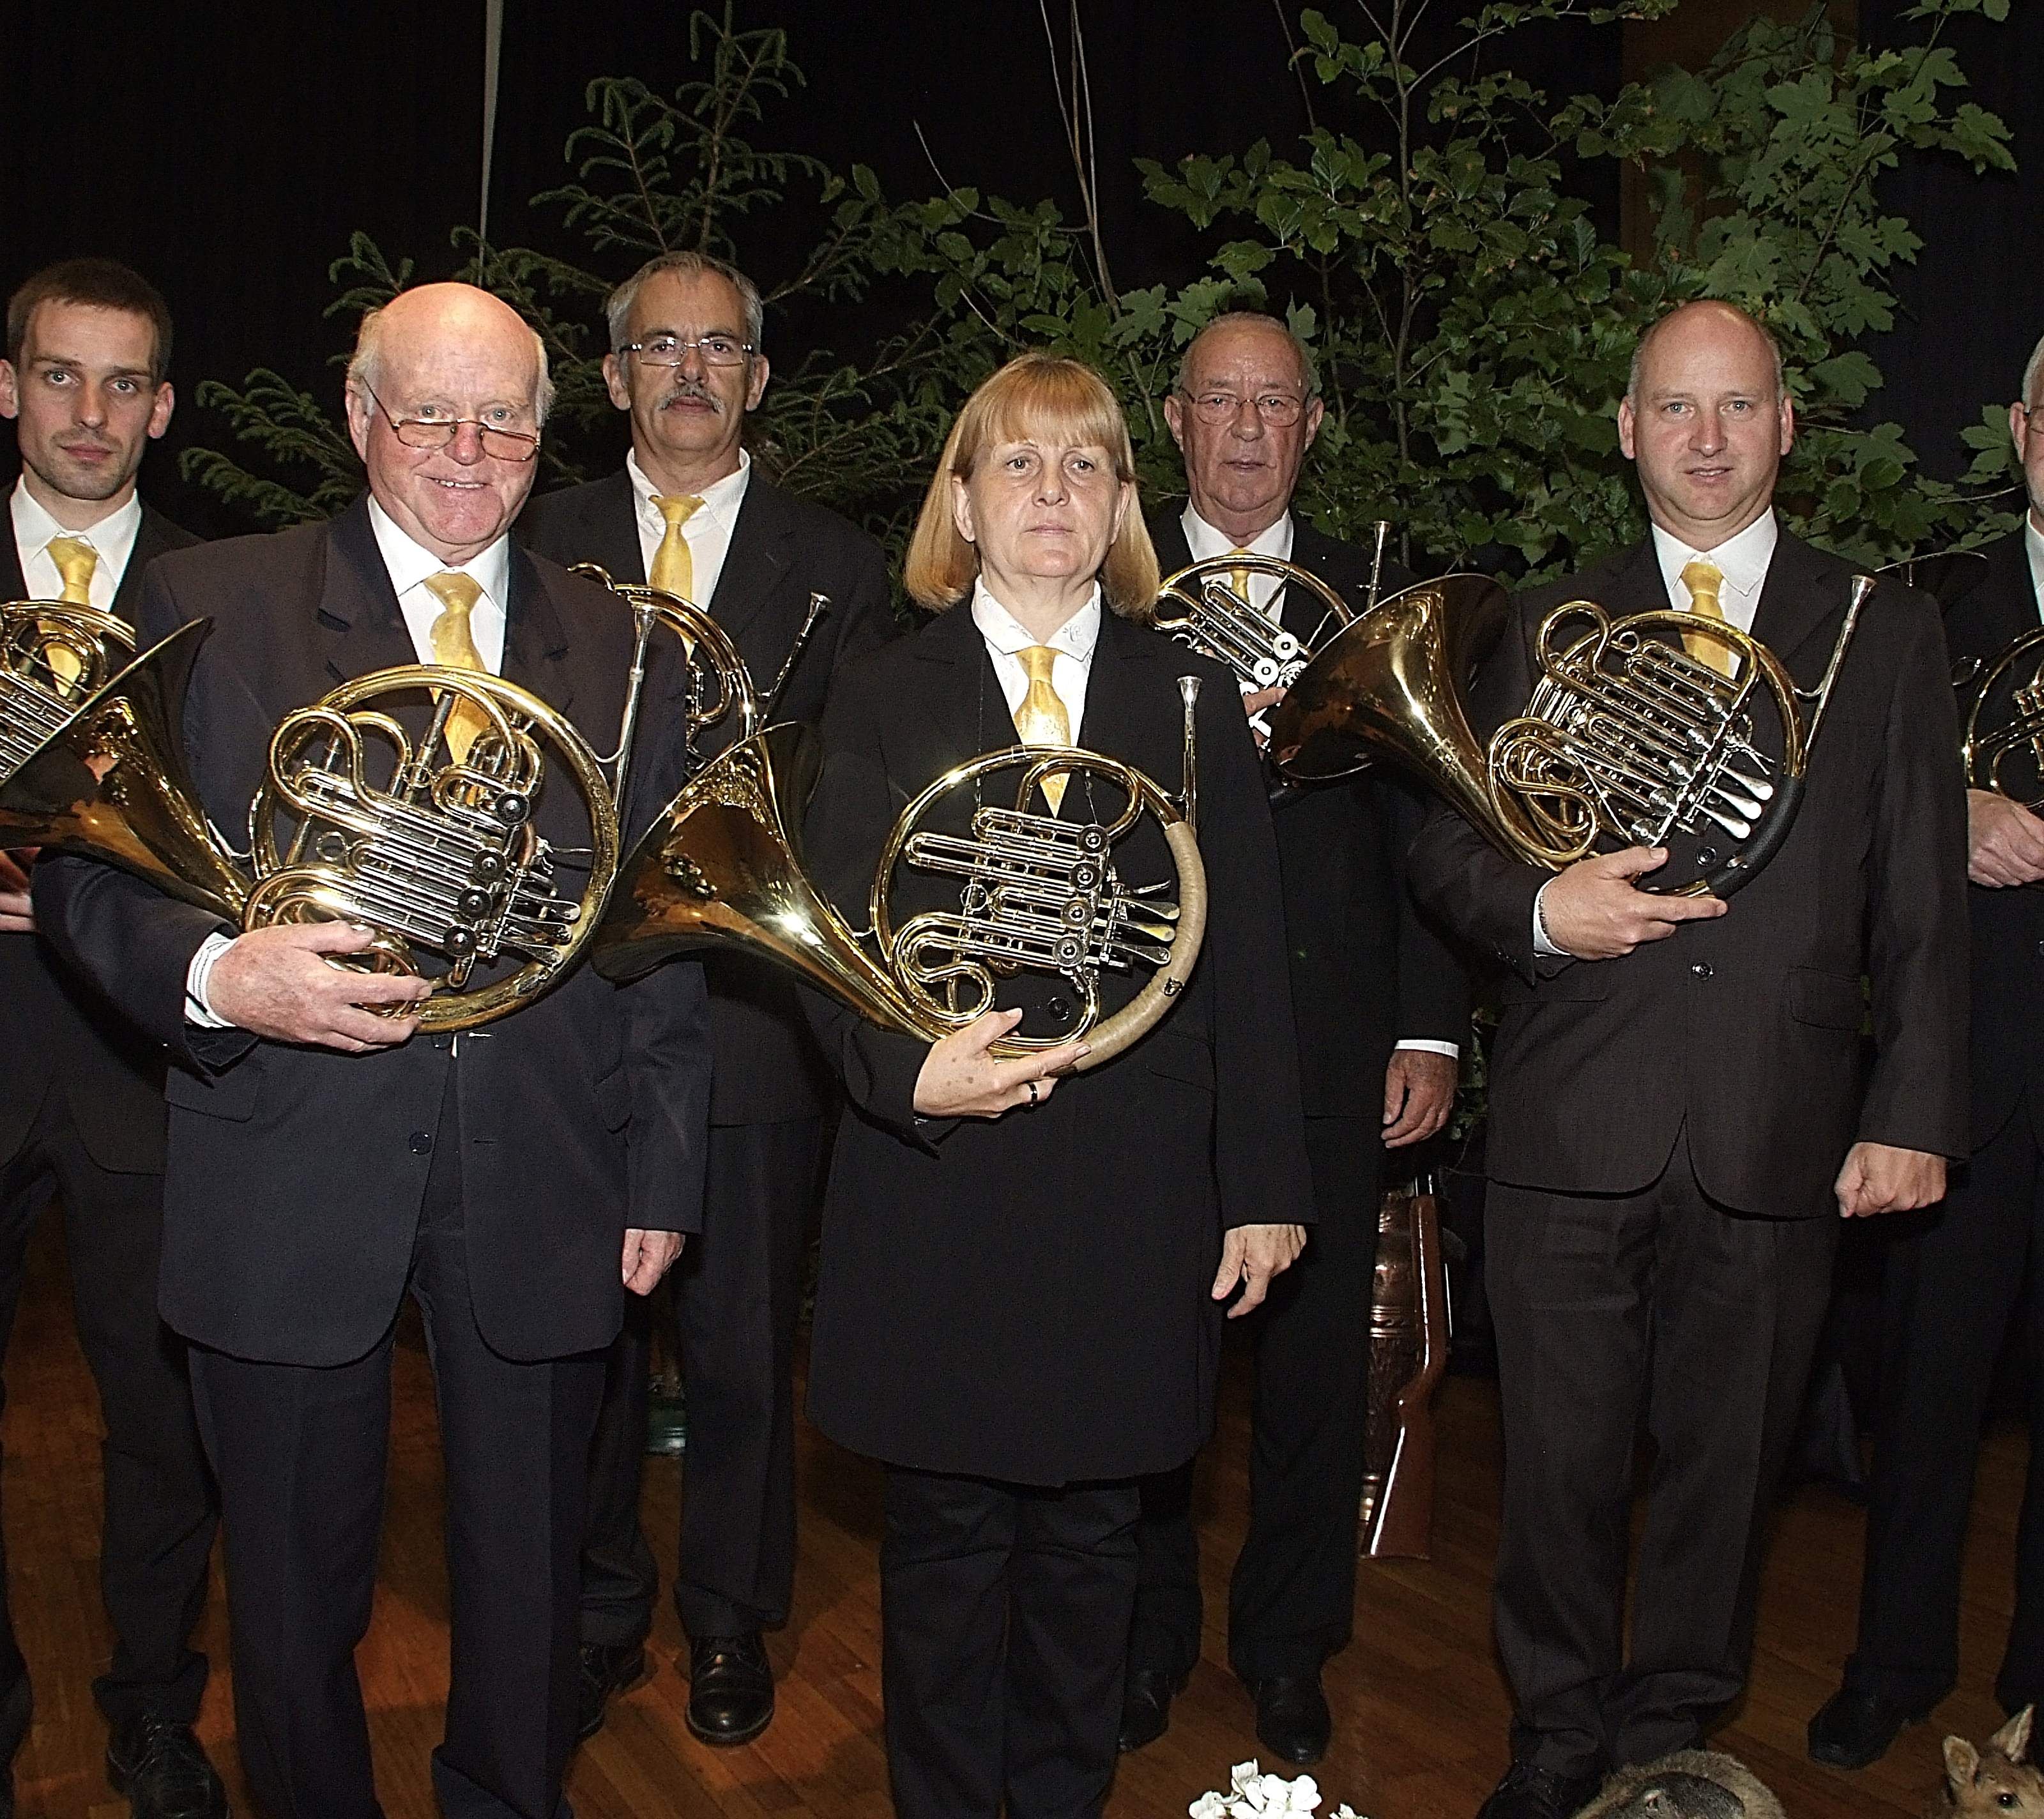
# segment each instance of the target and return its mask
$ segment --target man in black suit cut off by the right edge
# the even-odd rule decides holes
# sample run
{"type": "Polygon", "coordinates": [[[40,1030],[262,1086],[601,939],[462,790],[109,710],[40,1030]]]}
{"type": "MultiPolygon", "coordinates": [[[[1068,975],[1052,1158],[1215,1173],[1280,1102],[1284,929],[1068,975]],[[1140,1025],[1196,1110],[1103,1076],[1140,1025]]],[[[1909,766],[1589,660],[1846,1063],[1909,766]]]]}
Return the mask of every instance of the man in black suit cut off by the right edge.
{"type": "MultiPolygon", "coordinates": [[[[1944,615],[1954,674],[1993,662],[2040,623],[2044,589],[2044,343],[2030,356],[2009,433],[2030,513],[1991,544],[1944,615]]],[[[2017,674],[2038,664],[2032,654],[2017,674]]],[[[1960,689],[1970,705],[1972,689],[1960,689]]],[[[1985,728],[2005,721],[2007,691],[1985,728]],[[1997,717],[1999,715],[1999,717],[1997,717]]],[[[2019,754],[2015,754],[2019,758],[2019,754]]],[[[2013,777],[2022,789],[2024,779],[2013,777]]],[[[1866,1508],[1860,1641],[1844,1686],[1809,1721],[1809,1754],[1866,1768],[1958,1680],[1958,1557],[1995,1359],[2024,1308],[2044,1335],[2044,822],[2005,795],[1966,791],[1972,889],[1972,1130],[1944,1202],[1895,1234],[1880,1284],[1880,1418],[1866,1508]],[[2028,1281],[2028,1302],[2024,1302],[2028,1281]]],[[[2017,1525],[2015,1615],[1995,1696],[2044,1698],[2044,1398],[2032,1394],[2030,1482],[2017,1525]]]]}

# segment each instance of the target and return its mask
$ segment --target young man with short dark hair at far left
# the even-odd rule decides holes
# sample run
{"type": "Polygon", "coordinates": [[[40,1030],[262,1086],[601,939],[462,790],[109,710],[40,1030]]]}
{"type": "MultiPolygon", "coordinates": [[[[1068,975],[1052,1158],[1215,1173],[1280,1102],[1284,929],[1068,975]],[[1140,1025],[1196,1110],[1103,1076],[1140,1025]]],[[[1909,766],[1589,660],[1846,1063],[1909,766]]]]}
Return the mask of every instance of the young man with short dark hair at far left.
{"type": "MultiPolygon", "coordinates": [[[[0,417],[20,480],[0,540],[0,599],[72,601],[135,619],[143,568],[194,542],[141,503],[143,450],[170,425],[170,309],[112,260],[69,260],[8,302],[0,417]]],[[[57,1190],[78,1339],[106,1422],[100,1588],[114,1660],[94,1682],[108,1774],[143,1819],[223,1815],[192,1735],[206,1658],[188,1645],[217,1508],[184,1349],[155,1314],[164,1222],[164,1063],[35,936],[27,865],[0,854],[0,1349],[35,1214],[57,1190]]],[[[4,1578],[4,1570],[0,1570],[4,1578]]],[[[29,1731],[29,1666],[0,1586],[0,1811],[29,1731]]]]}

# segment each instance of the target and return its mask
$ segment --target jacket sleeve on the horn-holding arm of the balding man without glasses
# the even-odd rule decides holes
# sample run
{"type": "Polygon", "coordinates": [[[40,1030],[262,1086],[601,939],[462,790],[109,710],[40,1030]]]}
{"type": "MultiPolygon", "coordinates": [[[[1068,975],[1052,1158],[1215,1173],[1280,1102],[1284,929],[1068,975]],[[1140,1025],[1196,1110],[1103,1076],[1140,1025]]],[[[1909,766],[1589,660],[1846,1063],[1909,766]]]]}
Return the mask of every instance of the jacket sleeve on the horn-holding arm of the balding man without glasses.
{"type": "MultiPolygon", "coordinates": [[[[1470,715],[1478,742],[1488,742],[1533,693],[1527,623],[1529,615],[1515,611],[1478,677],[1470,715]]],[[[1406,877],[1427,916],[1529,985],[1558,965],[1533,954],[1533,899],[1553,873],[1506,858],[1447,803],[1437,801],[1429,811],[1406,854],[1406,877]]]]}

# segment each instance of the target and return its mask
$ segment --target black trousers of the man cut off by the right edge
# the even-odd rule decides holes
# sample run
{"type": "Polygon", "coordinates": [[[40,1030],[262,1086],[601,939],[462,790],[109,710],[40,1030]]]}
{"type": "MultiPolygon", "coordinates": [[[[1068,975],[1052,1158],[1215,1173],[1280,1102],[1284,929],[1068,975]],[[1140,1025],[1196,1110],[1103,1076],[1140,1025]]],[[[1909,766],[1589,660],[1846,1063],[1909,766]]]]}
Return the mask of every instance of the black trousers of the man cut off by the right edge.
{"type": "Polygon", "coordinates": [[[1958,1680],[1958,1559],[1995,1357],[2009,1318],[2030,1347],[2030,1480],[2015,1615],[1995,1694],[2044,1698],[2044,1167],[2030,1106],[1907,1214],[1880,1286],[1880,1418],[1866,1510],[1860,1645],[1846,1684],[1927,1711],[1958,1680]]]}

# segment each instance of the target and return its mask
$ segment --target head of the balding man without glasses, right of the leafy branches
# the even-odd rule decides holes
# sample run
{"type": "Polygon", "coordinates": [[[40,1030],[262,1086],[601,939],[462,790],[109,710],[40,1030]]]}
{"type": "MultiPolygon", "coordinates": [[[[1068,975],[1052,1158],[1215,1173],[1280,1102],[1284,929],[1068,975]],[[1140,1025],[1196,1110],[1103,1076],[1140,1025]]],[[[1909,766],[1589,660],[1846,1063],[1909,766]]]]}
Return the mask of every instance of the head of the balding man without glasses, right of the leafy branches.
{"type": "Polygon", "coordinates": [[[1686,302],[1639,337],[1619,448],[1654,523],[1715,550],[1774,503],[1795,441],[1774,337],[1729,302],[1686,302]]]}

